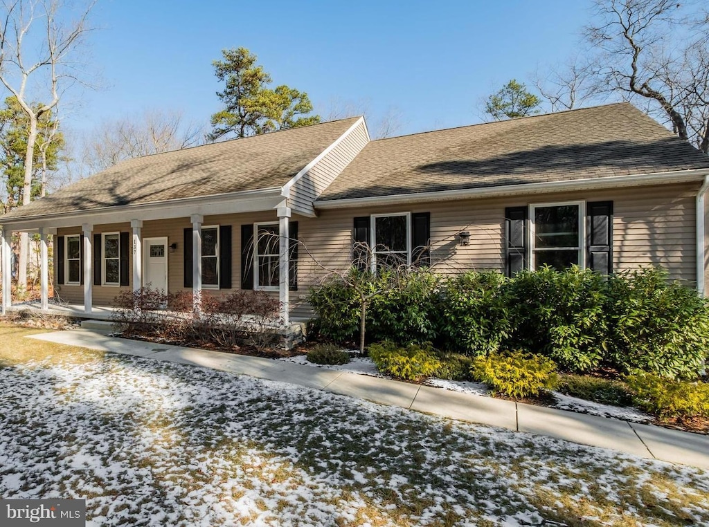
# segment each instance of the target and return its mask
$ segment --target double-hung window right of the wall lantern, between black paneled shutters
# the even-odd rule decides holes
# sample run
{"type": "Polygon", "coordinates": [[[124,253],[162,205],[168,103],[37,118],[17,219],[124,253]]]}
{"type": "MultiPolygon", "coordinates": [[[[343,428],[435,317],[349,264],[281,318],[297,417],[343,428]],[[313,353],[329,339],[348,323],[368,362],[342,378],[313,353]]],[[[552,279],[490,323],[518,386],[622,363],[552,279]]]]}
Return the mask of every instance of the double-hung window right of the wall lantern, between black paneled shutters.
{"type": "Polygon", "coordinates": [[[585,217],[583,201],[530,205],[531,268],[584,268],[585,217]]]}

